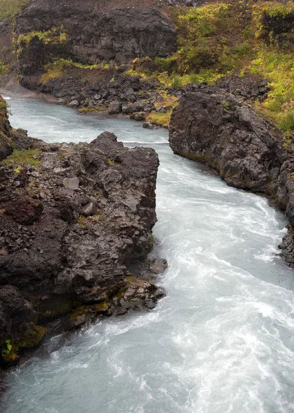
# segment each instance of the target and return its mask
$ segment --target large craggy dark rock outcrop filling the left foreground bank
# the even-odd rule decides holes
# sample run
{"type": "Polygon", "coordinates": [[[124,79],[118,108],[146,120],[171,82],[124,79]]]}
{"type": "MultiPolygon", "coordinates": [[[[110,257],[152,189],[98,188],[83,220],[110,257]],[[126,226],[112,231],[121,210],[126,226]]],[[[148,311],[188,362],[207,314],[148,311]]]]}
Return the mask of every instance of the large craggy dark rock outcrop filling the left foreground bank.
{"type": "Polygon", "coordinates": [[[154,308],[163,295],[127,271],[153,244],[155,151],[127,149],[108,132],[77,145],[18,133],[24,150],[15,140],[19,150],[0,163],[6,366],[41,341],[49,321],[64,317],[64,326],[75,328],[99,315],[154,308]]]}

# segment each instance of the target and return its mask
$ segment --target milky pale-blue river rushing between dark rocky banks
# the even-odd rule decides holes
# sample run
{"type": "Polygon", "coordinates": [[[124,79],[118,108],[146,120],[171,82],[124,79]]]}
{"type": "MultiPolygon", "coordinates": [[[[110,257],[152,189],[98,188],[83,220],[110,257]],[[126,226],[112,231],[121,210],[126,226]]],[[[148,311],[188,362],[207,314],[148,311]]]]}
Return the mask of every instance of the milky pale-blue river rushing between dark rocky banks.
{"type": "Polygon", "coordinates": [[[13,127],[47,142],[114,132],[160,156],[156,247],[167,297],[150,313],[53,337],[8,374],[3,413],[293,413],[294,273],[286,219],[172,153],[164,129],[11,98],[13,127]]]}

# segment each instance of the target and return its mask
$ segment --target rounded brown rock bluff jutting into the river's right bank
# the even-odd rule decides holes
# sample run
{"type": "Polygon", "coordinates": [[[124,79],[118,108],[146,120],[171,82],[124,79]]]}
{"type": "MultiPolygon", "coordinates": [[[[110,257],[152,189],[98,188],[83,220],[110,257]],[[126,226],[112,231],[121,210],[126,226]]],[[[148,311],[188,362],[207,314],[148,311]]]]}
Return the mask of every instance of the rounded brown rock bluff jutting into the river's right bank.
{"type": "Polygon", "coordinates": [[[286,160],[282,138],[249,106],[216,87],[195,87],[180,98],[169,127],[175,153],[218,169],[227,184],[277,193],[286,160]]]}

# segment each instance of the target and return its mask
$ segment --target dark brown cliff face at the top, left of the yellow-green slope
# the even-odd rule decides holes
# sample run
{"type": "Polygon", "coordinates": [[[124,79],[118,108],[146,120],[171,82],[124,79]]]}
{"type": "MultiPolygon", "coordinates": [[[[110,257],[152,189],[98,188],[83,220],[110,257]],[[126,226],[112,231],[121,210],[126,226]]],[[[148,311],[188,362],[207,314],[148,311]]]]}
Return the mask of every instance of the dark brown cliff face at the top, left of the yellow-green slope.
{"type": "Polygon", "coordinates": [[[104,11],[99,1],[34,1],[19,17],[16,32],[46,32],[62,28],[67,39],[45,42],[37,37],[19,55],[21,74],[34,75],[50,54],[85,64],[116,60],[127,63],[138,56],[167,56],[176,50],[176,30],[156,10],[113,8],[104,11]]]}

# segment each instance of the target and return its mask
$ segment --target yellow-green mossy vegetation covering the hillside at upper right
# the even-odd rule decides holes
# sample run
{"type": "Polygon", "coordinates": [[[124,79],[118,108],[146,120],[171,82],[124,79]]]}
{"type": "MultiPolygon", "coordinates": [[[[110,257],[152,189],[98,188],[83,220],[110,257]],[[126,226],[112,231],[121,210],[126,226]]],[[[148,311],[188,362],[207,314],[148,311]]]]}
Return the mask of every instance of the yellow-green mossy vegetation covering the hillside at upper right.
{"type": "MultiPolygon", "coordinates": [[[[236,74],[259,76],[271,91],[256,107],[284,131],[294,130],[293,30],[275,34],[283,21],[293,17],[294,4],[276,1],[246,6],[239,1],[209,1],[198,8],[170,8],[178,30],[178,50],[154,59],[155,70],[145,70],[145,59],[134,61],[132,74],[156,77],[165,87],[207,82],[236,74]],[[282,40],[281,40],[282,39],[282,40]]],[[[282,29],[280,30],[282,31],[282,29]]]]}

